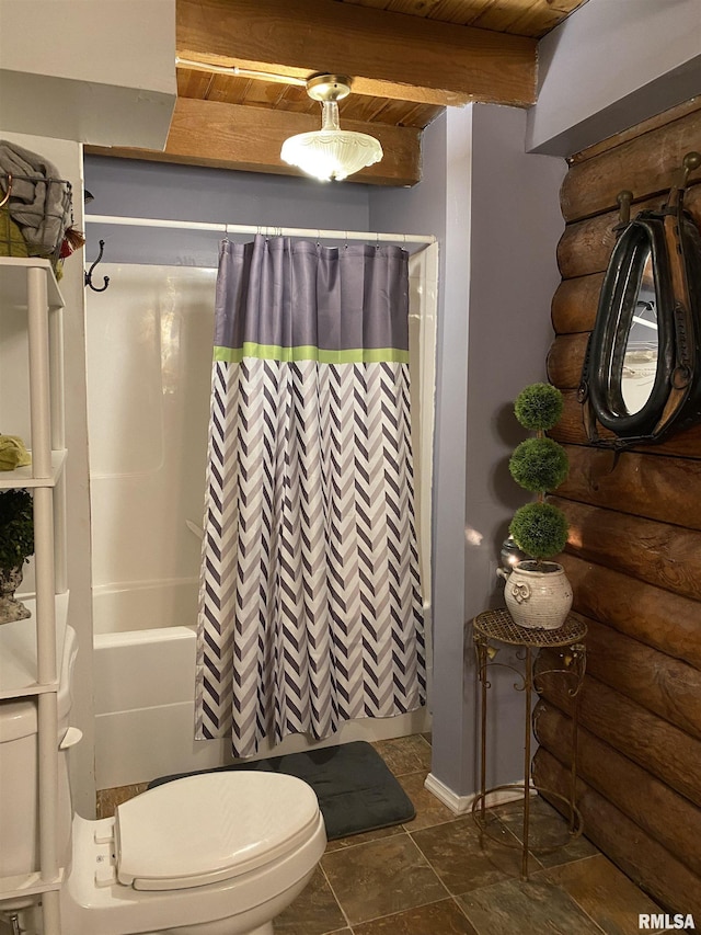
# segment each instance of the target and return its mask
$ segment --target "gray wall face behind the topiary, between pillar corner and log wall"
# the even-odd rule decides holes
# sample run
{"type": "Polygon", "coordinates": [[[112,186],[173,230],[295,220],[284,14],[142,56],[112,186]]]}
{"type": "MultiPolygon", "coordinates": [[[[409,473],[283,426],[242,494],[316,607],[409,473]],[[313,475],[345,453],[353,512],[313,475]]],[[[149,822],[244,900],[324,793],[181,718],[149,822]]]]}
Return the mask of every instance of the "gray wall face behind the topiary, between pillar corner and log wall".
{"type": "MultiPolygon", "coordinates": [[[[529,495],[512,480],[508,458],[525,437],[513,402],[530,383],[545,379],[553,339],[552,296],[560,284],[556,247],[564,221],[560,186],[564,159],[525,152],[527,115],[475,105],[472,124],[472,239],[466,466],[466,619],[504,606],[496,567],[517,506],[529,495]]],[[[467,654],[468,702],[476,694],[474,659],[467,654]]],[[[494,698],[491,784],[524,777],[522,694],[514,676],[492,670],[494,698]]],[[[474,726],[474,719],[470,721],[474,726]]],[[[472,738],[476,748],[476,734],[472,738]]],[[[476,760],[461,777],[474,788],[476,760]]]]}

